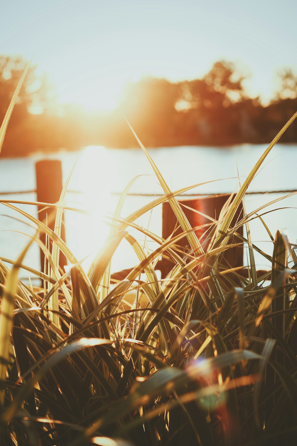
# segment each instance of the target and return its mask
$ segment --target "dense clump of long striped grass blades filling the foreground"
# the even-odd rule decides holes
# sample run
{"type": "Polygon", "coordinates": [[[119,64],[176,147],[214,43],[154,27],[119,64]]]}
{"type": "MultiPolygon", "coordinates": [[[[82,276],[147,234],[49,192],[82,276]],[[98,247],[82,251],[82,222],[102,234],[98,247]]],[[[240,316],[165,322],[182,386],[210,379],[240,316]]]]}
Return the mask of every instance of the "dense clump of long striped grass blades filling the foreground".
{"type": "MultiPolygon", "coordinates": [[[[122,219],[127,186],[90,271],[60,237],[66,185],[53,206],[60,210],[55,231],[2,202],[34,224],[37,232],[29,244],[41,246],[46,265],[36,271],[23,264],[29,244],[16,261],[9,260],[11,269],[8,259],[0,258],[1,444],[295,444],[296,246],[278,231],[271,257],[241,236],[250,248],[248,278],[234,268],[226,271],[222,256],[238,228],[255,217],[241,215],[230,227],[257,170],[296,116],[219,218],[210,219],[206,251],[176,200],[181,191],[171,192],[136,135],[164,195],[122,219]],[[167,200],[183,234],[162,240],[134,222],[167,200]],[[130,227],[159,247],[147,254],[130,227]],[[52,252],[40,242],[41,231],[53,241],[52,252]],[[174,249],[184,235],[191,246],[187,259],[174,249]],[[111,285],[110,262],[123,238],[139,264],[111,285]],[[253,250],[271,263],[262,277],[257,277],[253,250]],[[70,274],[59,272],[60,251],[72,264],[70,274]],[[160,281],[155,264],[166,254],[175,263],[160,281]],[[42,285],[21,283],[20,268],[40,277],[42,285]]],[[[0,141],[7,124],[2,124],[0,141]]]]}

